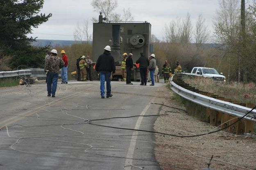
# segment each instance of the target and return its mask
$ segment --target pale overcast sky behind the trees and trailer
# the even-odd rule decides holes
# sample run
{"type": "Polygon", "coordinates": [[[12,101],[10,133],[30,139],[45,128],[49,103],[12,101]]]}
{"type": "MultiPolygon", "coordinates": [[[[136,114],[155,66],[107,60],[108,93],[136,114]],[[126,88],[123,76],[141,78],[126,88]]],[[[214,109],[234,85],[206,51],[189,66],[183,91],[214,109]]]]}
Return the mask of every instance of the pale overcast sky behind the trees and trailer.
{"type": "MultiPolygon", "coordinates": [[[[163,37],[163,27],[177,18],[186,18],[187,13],[195,27],[197,17],[201,13],[211,35],[213,18],[216,15],[219,0],[118,0],[116,13],[130,7],[135,21],[147,21],[152,25],[152,34],[163,37]]],[[[52,13],[48,22],[34,29],[31,36],[37,39],[74,40],[73,32],[77,23],[80,25],[88,20],[92,34],[92,17],[98,18],[99,13],[93,12],[91,0],[45,0],[42,13],[52,13]]],[[[30,36],[30,35],[29,35],[30,36]]]]}

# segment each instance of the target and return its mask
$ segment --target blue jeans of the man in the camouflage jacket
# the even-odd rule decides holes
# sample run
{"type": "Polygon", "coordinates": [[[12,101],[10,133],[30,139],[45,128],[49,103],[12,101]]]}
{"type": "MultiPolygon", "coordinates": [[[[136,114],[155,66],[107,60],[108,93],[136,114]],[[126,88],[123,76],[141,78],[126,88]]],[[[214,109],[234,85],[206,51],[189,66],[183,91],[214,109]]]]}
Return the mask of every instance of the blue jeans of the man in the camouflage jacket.
{"type": "Polygon", "coordinates": [[[59,73],[48,72],[47,74],[47,92],[48,94],[55,95],[57,89],[59,73]]]}

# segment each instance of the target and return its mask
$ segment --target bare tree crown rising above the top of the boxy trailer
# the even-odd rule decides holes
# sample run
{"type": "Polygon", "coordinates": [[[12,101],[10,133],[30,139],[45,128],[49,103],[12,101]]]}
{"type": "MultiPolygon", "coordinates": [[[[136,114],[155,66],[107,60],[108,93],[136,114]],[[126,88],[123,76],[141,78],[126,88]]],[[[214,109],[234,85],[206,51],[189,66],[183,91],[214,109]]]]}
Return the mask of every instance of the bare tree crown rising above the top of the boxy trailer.
{"type": "Polygon", "coordinates": [[[102,12],[104,17],[109,18],[109,15],[118,6],[117,0],[92,0],[91,5],[93,11],[102,12]]]}

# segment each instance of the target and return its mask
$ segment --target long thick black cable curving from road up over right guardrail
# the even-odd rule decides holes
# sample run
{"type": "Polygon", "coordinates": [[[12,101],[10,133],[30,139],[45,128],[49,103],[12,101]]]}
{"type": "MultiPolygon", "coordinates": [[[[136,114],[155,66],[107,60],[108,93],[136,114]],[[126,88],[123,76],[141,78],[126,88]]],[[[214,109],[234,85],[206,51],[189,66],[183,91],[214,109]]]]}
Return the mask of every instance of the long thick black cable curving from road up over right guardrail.
{"type": "Polygon", "coordinates": [[[91,121],[88,122],[88,124],[90,125],[96,125],[96,126],[101,126],[101,127],[106,127],[106,128],[114,128],[114,129],[122,129],[122,130],[134,130],[134,131],[139,131],[139,132],[150,132],[150,133],[156,133],[156,134],[164,134],[164,135],[168,135],[168,136],[174,136],[174,137],[181,137],[181,138],[189,138],[189,137],[197,137],[197,136],[204,136],[206,134],[213,134],[216,132],[219,132],[221,130],[227,129],[230,126],[234,125],[235,123],[237,123],[238,121],[240,121],[241,119],[243,119],[245,116],[247,116],[251,111],[253,111],[256,108],[256,106],[254,108],[252,108],[249,112],[247,112],[247,114],[245,114],[244,116],[240,117],[237,121],[235,121],[234,123],[232,123],[231,125],[228,125],[225,128],[219,129],[219,130],[215,130],[213,132],[208,132],[208,133],[204,133],[204,134],[197,134],[197,135],[191,135],[191,136],[181,136],[181,135],[176,135],[176,134],[167,134],[167,133],[162,133],[162,132],[154,132],[154,131],[149,131],[149,130],[140,130],[140,129],[130,129],[130,128],[120,128],[120,127],[114,127],[114,126],[107,126],[107,125],[99,125],[99,124],[95,124],[92,123],[91,121]]]}

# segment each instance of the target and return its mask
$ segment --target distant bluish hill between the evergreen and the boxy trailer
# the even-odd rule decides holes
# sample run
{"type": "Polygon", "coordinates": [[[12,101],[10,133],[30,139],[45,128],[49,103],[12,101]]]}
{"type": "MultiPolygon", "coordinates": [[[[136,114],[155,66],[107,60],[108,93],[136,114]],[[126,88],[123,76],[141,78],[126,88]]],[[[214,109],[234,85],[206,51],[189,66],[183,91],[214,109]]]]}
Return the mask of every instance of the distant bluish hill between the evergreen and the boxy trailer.
{"type": "MultiPolygon", "coordinates": [[[[52,47],[63,47],[63,46],[68,46],[72,45],[75,43],[79,43],[79,41],[72,41],[72,40],[40,40],[37,39],[35,42],[32,42],[33,46],[36,47],[44,47],[45,45],[51,45],[52,47]]],[[[90,41],[89,43],[92,43],[90,41]]]]}

